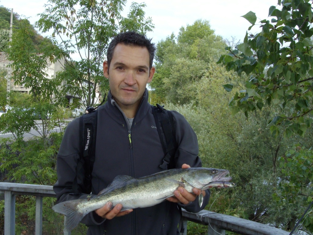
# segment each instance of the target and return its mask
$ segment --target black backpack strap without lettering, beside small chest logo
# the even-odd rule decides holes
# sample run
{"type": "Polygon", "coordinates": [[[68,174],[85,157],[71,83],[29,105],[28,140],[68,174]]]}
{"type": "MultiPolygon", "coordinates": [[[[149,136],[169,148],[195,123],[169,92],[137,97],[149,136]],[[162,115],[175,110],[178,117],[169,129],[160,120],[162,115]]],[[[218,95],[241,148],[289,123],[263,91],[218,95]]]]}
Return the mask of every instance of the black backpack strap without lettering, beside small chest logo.
{"type": "Polygon", "coordinates": [[[177,141],[172,113],[159,104],[152,106],[152,113],[164,152],[164,159],[160,167],[163,170],[173,169],[175,168],[174,155],[177,149],[177,141]]]}

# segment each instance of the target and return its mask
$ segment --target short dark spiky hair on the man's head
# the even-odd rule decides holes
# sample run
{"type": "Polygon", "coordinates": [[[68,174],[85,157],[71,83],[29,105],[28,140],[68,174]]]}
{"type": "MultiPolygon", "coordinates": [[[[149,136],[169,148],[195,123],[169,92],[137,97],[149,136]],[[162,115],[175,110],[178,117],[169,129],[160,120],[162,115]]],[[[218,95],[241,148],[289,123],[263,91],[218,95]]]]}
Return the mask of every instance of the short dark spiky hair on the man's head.
{"type": "Polygon", "coordinates": [[[124,44],[124,45],[130,45],[130,46],[146,47],[149,52],[150,69],[152,68],[154,53],[156,50],[155,44],[151,43],[151,39],[148,39],[146,38],[146,36],[136,33],[134,31],[119,33],[115,36],[115,38],[112,39],[112,41],[109,44],[108,51],[106,54],[107,61],[108,61],[108,68],[110,68],[110,63],[113,58],[114,49],[116,45],[119,43],[124,44]]]}

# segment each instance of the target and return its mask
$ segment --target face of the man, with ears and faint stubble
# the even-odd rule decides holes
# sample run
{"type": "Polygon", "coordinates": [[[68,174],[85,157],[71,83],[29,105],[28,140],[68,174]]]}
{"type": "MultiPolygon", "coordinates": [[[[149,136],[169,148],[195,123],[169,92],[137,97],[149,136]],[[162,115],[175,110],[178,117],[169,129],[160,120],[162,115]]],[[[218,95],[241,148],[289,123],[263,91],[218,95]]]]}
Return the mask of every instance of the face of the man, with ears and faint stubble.
{"type": "Polygon", "coordinates": [[[109,79],[111,94],[122,110],[137,110],[154,72],[154,67],[149,69],[146,47],[117,44],[110,68],[107,61],[103,63],[103,74],[109,79]]]}

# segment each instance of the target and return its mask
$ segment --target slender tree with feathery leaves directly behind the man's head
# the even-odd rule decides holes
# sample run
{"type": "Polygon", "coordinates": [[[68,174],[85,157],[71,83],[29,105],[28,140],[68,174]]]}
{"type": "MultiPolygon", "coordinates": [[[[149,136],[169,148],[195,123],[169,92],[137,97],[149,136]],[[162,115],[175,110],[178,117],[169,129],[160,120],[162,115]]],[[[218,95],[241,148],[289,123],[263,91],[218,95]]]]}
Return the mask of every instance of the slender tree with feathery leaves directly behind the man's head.
{"type": "Polygon", "coordinates": [[[84,97],[85,105],[92,106],[96,102],[97,86],[108,87],[102,63],[110,39],[121,31],[146,33],[152,30],[151,18],[145,18],[142,9],[146,5],[132,3],[125,18],[121,11],[126,0],[49,0],[48,3],[36,26],[43,32],[52,30],[54,43],[64,50],[68,59],[64,72],[58,76],[64,80],[68,78],[69,86],[79,85],[80,89],[72,95],[84,97]],[[71,59],[73,53],[79,55],[79,61],[71,59]]]}

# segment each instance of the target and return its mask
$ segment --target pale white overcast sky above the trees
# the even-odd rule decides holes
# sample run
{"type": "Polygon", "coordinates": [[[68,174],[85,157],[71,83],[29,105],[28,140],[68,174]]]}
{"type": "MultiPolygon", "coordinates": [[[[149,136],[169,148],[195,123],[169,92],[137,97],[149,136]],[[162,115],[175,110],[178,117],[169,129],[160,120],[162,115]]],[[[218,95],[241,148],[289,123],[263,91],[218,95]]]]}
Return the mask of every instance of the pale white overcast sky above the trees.
{"type": "MultiPolygon", "coordinates": [[[[146,17],[151,17],[155,25],[153,32],[148,33],[154,43],[165,39],[187,24],[192,25],[197,19],[208,20],[215,34],[230,39],[236,37],[243,41],[246,31],[251,25],[243,15],[252,11],[257,16],[257,23],[267,18],[269,7],[277,6],[278,0],[131,0],[124,8],[125,14],[131,2],[145,2],[146,17]]],[[[38,20],[37,14],[44,11],[45,0],[0,0],[0,5],[13,8],[13,12],[28,18],[30,23],[38,20]]],[[[277,7],[281,9],[281,6],[277,7]]],[[[260,28],[254,26],[250,32],[259,32],[260,28]]],[[[40,32],[39,32],[40,33],[40,32]]],[[[44,35],[46,36],[46,35],[44,35]]]]}

